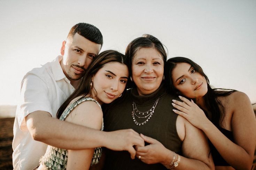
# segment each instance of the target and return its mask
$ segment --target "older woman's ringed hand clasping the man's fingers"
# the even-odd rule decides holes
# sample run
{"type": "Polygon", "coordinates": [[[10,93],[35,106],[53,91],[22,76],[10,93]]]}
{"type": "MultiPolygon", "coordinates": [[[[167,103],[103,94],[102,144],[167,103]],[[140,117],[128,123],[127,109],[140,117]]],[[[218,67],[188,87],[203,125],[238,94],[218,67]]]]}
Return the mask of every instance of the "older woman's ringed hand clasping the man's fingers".
{"type": "Polygon", "coordinates": [[[165,148],[156,139],[144,136],[142,134],[140,134],[140,136],[144,139],[145,142],[149,143],[149,145],[135,147],[137,158],[139,158],[142,162],[147,164],[169,163],[165,163],[165,161],[169,161],[170,159],[170,151],[167,148],[165,148]]]}

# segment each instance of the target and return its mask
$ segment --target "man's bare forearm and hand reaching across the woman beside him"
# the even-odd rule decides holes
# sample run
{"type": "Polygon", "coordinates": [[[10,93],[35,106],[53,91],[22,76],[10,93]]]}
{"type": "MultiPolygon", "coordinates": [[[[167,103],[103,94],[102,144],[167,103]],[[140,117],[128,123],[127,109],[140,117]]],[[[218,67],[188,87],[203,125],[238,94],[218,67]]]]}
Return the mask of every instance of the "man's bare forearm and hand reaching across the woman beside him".
{"type": "Polygon", "coordinates": [[[126,150],[134,159],[133,145],[144,146],[143,139],[132,129],[104,132],[52,118],[45,111],[32,112],[25,121],[34,140],[67,150],[107,147],[126,150]]]}

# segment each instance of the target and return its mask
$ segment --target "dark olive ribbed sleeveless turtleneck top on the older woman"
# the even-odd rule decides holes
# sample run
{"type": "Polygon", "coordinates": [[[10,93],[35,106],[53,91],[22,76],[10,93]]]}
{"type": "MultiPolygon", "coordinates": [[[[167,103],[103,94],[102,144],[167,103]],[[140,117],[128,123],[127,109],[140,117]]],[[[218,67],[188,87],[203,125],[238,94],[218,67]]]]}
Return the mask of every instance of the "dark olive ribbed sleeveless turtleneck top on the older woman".
{"type": "MultiPolygon", "coordinates": [[[[116,102],[110,105],[110,107],[106,109],[106,112],[104,112],[104,131],[133,129],[138,133],[156,139],[169,150],[181,154],[182,142],[176,129],[178,114],[172,111],[172,109],[174,109],[171,104],[172,99],[179,100],[178,97],[167,93],[163,84],[154,93],[145,96],[139,95],[137,89],[130,89],[126,92],[121,103],[116,102]],[[152,107],[157,99],[159,100],[149,119],[146,117],[147,113],[144,113],[144,115],[142,113],[138,114],[135,110],[137,116],[146,118],[134,116],[134,121],[132,117],[133,102],[138,111],[149,111],[148,114],[150,114],[150,109],[153,110],[152,107]],[[146,121],[146,123],[139,126],[136,121],[138,123],[146,121]]],[[[127,151],[111,151],[105,149],[103,152],[106,154],[104,169],[166,169],[161,163],[146,164],[137,158],[132,160],[127,151]]]]}

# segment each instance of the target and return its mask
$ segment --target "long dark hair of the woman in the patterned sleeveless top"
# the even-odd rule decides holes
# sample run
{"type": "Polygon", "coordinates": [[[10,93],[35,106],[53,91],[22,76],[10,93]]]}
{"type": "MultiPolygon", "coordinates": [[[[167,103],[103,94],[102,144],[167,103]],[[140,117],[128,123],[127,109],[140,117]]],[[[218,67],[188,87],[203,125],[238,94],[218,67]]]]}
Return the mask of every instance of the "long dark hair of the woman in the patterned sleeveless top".
{"type": "MultiPolygon", "coordinates": [[[[109,62],[119,62],[127,66],[124,60],[124,54],[119,53],[115,50],[107,50],[107,51],[101,52],[99,56],[97,56],[96,59],[92,61],[92,63],[86,70],[84,77],[81,78],[81,82],[78,88],[68,97],[68,99],[59,108],[57,112],[58,119],[61,117],[61,114],[68,107],[69,103],[73,99],[75,99],[78,96],[84,97],[87,94],[92,94],[92,88],[90,84],[92,83],[93,76],[98,72],[99,69],[101,69],[106,63],[109,63],[109,62]]],[[[92,84],[92,87],[93,87],[93,84],[92,84]]],[[[123,93],[125,93],[125,91],[126,90],[124,90],[123,93]]]]}

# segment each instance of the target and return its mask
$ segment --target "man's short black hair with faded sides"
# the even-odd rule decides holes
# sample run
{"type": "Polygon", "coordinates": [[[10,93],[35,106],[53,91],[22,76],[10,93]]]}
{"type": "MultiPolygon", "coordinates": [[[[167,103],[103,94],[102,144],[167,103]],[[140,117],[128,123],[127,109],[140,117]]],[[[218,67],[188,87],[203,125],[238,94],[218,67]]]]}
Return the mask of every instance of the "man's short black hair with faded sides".
{"type": "Polygon", "coordinates": [[[76,33],[96,44],[100,44],[102,47],[103,36],[100,30],[94,25],[88,23],[78,23],[70,29],[68,37],[74,36],[76,33]]]}

